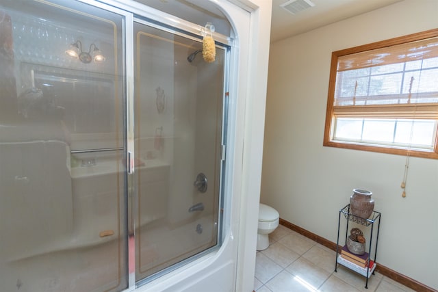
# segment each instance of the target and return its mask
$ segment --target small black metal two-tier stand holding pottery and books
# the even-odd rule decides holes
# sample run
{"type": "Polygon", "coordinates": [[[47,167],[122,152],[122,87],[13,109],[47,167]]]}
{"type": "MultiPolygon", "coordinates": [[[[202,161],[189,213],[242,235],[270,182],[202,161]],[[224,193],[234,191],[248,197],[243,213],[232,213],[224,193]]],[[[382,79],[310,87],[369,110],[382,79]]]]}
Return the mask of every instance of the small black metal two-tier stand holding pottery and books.
{"type": "MultiPolygon", "coordinates": [[[[365,277],[365,289],[368,289],[368,278],[370,278],[371,275],[374,275],[374,270],[376,269],[376,254],[377,254],[377,243],[378,243],[378,232],[380,230],[381,226],[381,213],[378,211],[372,211],[372,214],[369,218],[365,219],[362,217],[359,217],[357,215],[353,215],[350,213],[350,204],[346,205],[346,207],[339,210],[339,219],[337,222],[337,242],[336,242],[336,258],[335,258],[335,271],[337,272],[337,264],[344,265],[344,267],[347,267],[348,269],[351,269],[352,271],[356,271],[357,273],[361,274],[365,277]],[[370,257],[370,261],[368,261],[368,268],[366,271],[355,269],[355,264],[351,263],[351,265],[346,265],[344,261],[339,261],[339,258],[341,257],[341,252],[339,248],[339,231],[341,229],[341,215],[344,215],[345,219],[347,220],[346,225],[346,233],[345,233],[345,243],[347,242],[348,237],[348,223],[355,222],[357,224],[361,224],[362,226],[370,227],[370,241],[369,241],[369,250],[368,250],[368,256],[370,257]],[[371,256],[371,250],[372,250],[372,235],[374,231],[374,223],[377,222],[377,234],[376,234],[376,246],[374,248],[374,257],[371,256]],[[370,269],[370,262],[374,261],[374,266],[370,269]]],[[[350,264],[350,263],[349,263],[350,264]]],[[[357,266],[359,267],[359,266],[357,266]]]]}

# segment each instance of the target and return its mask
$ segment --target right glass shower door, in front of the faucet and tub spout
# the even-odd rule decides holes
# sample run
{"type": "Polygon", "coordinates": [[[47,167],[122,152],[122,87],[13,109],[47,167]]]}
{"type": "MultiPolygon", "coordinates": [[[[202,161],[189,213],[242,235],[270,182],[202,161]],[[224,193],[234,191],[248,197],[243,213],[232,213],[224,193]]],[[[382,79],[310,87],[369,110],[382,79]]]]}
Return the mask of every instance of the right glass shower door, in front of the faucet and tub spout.
{"type": "Polygon", "coordinates": [[[223,48],[134,23],[136,280],[218,245],[223,48]]]}

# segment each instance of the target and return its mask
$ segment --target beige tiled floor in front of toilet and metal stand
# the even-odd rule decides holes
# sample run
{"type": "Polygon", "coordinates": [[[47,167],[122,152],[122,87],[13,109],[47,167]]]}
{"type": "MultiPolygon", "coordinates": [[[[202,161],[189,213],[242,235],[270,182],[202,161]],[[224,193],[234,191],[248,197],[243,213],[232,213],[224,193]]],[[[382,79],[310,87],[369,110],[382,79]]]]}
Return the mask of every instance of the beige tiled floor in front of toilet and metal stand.
{"type": "Polygon", "coordinates": [[[377,272],[368,280],[339,265],[336,252],[280,225],[270,234],[270,246],[257,252],[254,289],[256,292],[291,291],[413,291],[377,272]]]}

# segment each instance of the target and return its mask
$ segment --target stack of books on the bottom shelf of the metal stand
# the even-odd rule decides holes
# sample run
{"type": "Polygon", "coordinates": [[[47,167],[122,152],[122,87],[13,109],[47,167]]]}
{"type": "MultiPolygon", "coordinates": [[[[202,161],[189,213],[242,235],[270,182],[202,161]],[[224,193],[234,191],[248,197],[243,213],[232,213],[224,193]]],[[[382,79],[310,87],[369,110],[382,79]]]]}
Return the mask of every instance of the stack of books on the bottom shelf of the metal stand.
{"type": "Polygon", "coordinates": [[[356,271],[362,276],[368,276],[368,278],[370,278],[374,269],[376,269],[376,263],[370,259],[368,252],[365,252],[365,254],[362,255],[353,254],[348,250],[346,245],[344,245],[341,254],[337,257],[337,263],[356,271]]]}

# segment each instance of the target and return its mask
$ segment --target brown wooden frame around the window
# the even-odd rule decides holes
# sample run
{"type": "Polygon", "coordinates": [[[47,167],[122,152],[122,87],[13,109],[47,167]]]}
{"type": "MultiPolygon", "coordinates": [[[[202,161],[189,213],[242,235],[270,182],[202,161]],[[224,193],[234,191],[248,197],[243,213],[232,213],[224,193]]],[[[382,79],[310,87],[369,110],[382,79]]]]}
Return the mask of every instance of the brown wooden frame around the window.
{"type": "MultiPolygon", "coordinates": [[[[433,146],[433,150],[417,150],[413,148],[395,148],[393,146],[374,146],[374,145],[364,145],[364,144],[357,144],[355,142],[340,142],[332,140],[333,137],[333,130],[335,125],[335,116],[334,116],[334,102],[335,102],[335,89],[336,89],[336,81],[337,81],[337,67],[338,67],[338,59],[339,57],[345,56],[345,55],[352,55],[355,53],[361,53],[365,51],[371,51],[374,49],[382,49],[385,47],[391,47],[395,45],[400,44],[407,44],[409,42],[415,42],[418,40],[425,40],[428,38],[437,38],[438,37],[438,29],[430,29],[428,31],[422,31],[417,34],[410,34],[407,36],[402,36],[398,38],[392,38],[389,40],[383,40],[380,42],[374,42],[371,44],[365,44],[358,47],[352,47],[350,49],[344,49],[340,51],[334,51],[332,53],[331,57],[331,69],[330,69],[330,79],[329,79],[329,94],[327,98],[327,108],[326,108],[326,120],[325,120],[325,127],[324,127],[324,142],[323,146],[330,146],[330,147],[337,147],[337,148],[346,148],[346,149],[355,149],[355,150],[365,150],[365,151],[372,151],[372,152],[381,152],[381,153],[387,153],[387,154],[394,154],[394,155],[410,155],[413,157],[422,157],[422,158],[429,158],[429,159],[438,159],[438,133],[435,133],[435,144],[433,146]]],[[[352,106],[356,107],[356,111],[361,114],[361,107],[360,106],[352,106]]],[[[368,106],[367,112],[368,114],[363,113],[363,116],[356,116],[357,118],[372,118],[373,114],[370,114],[370,108],[372,106],[368,106]]],[[[382,116],[382,112],[385,112],[385,107],[387,107],[387,118],[391,118],[391,115],[394,116],[394,112],[402,111],[406,113],[406,118],[410,118],[410,116],[415,116],[416,114],[419,114],[420,111],[424,108],[426,111],[432,113],[430,114],[430,118],[433,120],[438,120],[438,111],[430,111],[430,104],[424,104],[415,106],[415,113],[409,114],[409,111],[413,111],[413,105],[396,105],[394,106],[374,106],[376,115],[382,116]]],[[[344,107],[343,107],[344,108],[344,107]]],[[[347,108],[347,107],[345,107],[347,108]]],[[[374,110],[374,109],[373,109],[374,110]]],[[[348,111],[348,109],[347,109],[348,111]]],[[[425,117],[423,117],[425,118],[425,117]]],[[[438,131],[438,130],[437,130],[438,131]]]]}

